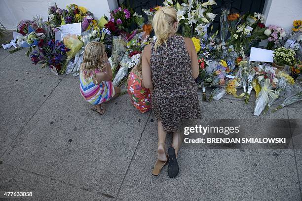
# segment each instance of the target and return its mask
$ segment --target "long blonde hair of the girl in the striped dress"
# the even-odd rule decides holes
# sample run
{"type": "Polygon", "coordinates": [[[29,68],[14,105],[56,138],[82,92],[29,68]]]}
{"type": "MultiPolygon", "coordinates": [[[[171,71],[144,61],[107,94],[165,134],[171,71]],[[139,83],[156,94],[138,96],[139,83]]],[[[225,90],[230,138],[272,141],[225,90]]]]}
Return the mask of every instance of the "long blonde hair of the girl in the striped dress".
{"type": "Polygon", "coordinates": [[[92,74],[95,75],[95,69],[103,70],[105,66],[103,64],[104,53],[105,46],[103,43],[92,41],[86,45],[83,55],[83,63],[80,67],[85,78],[90,77],[92,74]]]}

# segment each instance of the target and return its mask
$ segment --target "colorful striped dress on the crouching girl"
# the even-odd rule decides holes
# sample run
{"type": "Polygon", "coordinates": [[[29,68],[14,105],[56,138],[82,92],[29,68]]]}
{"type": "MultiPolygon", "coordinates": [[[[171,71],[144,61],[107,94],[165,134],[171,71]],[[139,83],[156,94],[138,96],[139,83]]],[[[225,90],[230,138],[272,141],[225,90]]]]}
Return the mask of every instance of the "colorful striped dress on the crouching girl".
{"type": "MultiPolygon", "coordinates": [[[[95,70],[95,73],[98,72],[99,70],[95,70]]],[[[93,83],[93,75],[85,79],[82,71],[80,71],[79,79],[81,95],[92,105],[106,102],[115,95],[113,83],[111,81],[102,81],[100,84],[95,85],[93,83]]]]}

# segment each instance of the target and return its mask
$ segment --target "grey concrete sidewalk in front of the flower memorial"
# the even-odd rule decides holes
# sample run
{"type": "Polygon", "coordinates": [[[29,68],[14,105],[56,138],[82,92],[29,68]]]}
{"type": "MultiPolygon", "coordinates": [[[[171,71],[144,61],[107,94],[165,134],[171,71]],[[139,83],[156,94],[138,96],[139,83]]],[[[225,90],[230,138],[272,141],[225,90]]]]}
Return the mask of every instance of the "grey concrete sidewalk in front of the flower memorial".
{"type": "MultiPolygon", "coordinates": [[[[20,200],[35,201],[302,200],[301,137],[291,149],[184,148],[176,178],[167,167],[152,176],[151,112],[139,113],[123,95],[100,116],[80,96],[78,77],[41,69],[26,51],[0,49],[0,191],[33,192],[20,200]]],[[[203,118],[299,119],[301,131],[301,102],[255,117],[253,96],[247,106],[231,96],[199,99],[203,118]]]]}

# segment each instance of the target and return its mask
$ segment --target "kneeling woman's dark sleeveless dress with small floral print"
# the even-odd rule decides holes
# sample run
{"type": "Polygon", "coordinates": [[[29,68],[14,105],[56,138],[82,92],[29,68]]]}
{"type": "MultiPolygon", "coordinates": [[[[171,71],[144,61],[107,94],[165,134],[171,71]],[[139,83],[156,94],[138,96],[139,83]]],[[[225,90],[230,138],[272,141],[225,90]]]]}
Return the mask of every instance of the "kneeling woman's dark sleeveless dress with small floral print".
{"type": "Polygon", "coordinates": [[[172,35],[154,50],[151,43],[152,111],[165,131],[179,131],[182,120],[200,119],[197,85],[182,36],[172,35]]]}

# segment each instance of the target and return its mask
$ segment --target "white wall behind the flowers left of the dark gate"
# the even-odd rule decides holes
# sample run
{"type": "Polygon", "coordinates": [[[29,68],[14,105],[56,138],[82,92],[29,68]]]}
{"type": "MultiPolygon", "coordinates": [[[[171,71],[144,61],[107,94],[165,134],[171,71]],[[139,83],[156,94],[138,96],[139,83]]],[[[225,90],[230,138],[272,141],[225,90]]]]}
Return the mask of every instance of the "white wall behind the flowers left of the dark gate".
{"type": "Polygon", "coordinates": [[[56,2],[62,9],[76,3],[90,10],[96,18],[104,14],[109,17],[109,10],[117,8],[116,0],[0,0],[0,22],[8,30],[15,30],[20,20],[32,20],[36,15],[42,15],[46,20],[49,2],[56,2]]]}

